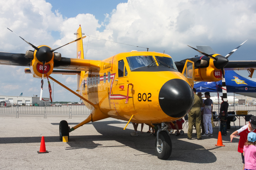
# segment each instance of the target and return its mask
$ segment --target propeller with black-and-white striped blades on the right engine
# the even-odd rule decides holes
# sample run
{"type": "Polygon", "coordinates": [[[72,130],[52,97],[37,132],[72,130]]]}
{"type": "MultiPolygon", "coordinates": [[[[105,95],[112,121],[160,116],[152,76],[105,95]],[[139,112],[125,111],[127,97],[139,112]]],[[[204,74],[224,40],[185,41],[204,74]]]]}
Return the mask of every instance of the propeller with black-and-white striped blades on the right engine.
{"type": "MultiPolygon", "coordinates": [[[[247,41],[247,40],[246,40],[247,41]]],[[[244,41],[241,45],[243,45],[246,41],[244,41]]],[[[232,50],[230,53],[228,53],[228,55],[226,55],[225,57],[222,55],[216,55],[215,57],[209,54],[206,54],[196,48],[193,48],[194,50],[198,51],[199,53],[212,58],[213,64],[217,69],[221,69],[222,72],[222,96],[223,96],[223,100],[227,101],[228,100],[228,96],[227,96],[227,87],[226,87],[226,81],[225,81],[225,76],[224,76],[224,67],[228,64],[228,57],[230,57],[230,55],[232,55],[241,45],[239,45],[238,47],[236,47],[236,49],[232,50]]],[[[190,47],[188,45],[188,47],[190,47]]]]}

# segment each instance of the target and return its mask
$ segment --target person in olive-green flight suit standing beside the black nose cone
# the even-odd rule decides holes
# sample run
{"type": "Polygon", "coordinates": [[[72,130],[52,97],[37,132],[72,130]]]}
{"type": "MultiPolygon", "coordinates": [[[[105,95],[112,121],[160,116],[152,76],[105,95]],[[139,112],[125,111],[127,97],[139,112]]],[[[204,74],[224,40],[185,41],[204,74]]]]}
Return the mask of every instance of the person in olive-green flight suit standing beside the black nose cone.
{"type": "Polygon", "coordinates": [[[196,134],[197,140],[201,140],[201,107],[203,105],[203,100],[200,96],[196,95],[196,89],[193,88],[195,100],[193,107],[188,113],[188,139],[192,139],[192,131],[194,122],[196,122],[196,134]]]}

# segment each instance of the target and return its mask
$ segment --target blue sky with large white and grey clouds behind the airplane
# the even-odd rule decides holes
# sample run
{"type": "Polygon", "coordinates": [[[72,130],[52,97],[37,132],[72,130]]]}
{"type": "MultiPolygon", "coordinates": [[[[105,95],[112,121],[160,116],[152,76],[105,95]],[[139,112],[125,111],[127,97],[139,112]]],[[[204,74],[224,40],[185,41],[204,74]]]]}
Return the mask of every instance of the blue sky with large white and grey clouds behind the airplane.
{"type": "MultiPolygon", "coordinates": [[[[255,60],[255,9],[256,1],[250,0],[1,0],[0,51],[25,53],[33,50],[4,26],[36,46],[57,48],[75,40],[74,33],[81,24],[82,32],[87,35],[147,47],[149,51],[165,51],[174,61],[198,55],[187,45],[195,48],[209,45],[225,56],[248,39],[228,59],[255,60]]],[[[109,41],[86,37],[83,40],[84,50],[88,46],[86,59],[102,60],[121,52],[145,50],[109,41]]],[[[76,44],[56,52],[63,57],[76,58],[76,44]]],[[[40,94],[40,79],[25,75],[24,68],[1,65],[0,94],[40,94]]],[[[248,76],[247,71],[238,73],[248,76]]],[[[76,91],[76,76],[52,77],[76,91]]],[[[48,96],[49,92],[44,91],[43,97],[48,96]]],[[[79,101],[75,95],[54,84],[54,101],[63,100],[79,101]]]]}

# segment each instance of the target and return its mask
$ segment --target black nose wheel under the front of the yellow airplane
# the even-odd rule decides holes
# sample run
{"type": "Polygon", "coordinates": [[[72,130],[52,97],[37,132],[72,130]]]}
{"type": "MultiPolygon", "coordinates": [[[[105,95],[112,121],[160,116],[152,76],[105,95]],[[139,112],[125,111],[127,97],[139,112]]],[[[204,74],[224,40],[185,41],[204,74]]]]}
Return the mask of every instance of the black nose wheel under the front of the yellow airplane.
{"type": "Polygon", "coordinates": [[[168,159],[171,156],[172,141],[170,136],[166,132],[161,131],[158,134],[158,145],[157,145],[157,138],[156,138],[155,151],[158,159],[168,159]]]}

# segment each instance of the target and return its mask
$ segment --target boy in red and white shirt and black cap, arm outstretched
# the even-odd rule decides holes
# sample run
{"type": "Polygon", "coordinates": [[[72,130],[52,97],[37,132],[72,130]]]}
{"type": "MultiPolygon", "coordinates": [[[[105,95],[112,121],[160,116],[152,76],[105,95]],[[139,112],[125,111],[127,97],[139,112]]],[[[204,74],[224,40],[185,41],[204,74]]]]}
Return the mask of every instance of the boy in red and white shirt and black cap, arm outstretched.
{"type": "Polygon", "coordinates": [[[237,137],[240,135],[237,151],[242,154],[243,164],[244,164],[244,156],[243,156],[244,143],[247,141],[247,135],[250,132],[256,132],[256,116],[252,116],[247,125],[243,126],[241,129],[236,130],[230,135],[230,142],[232,142],[233,137],[237,137]]]}

